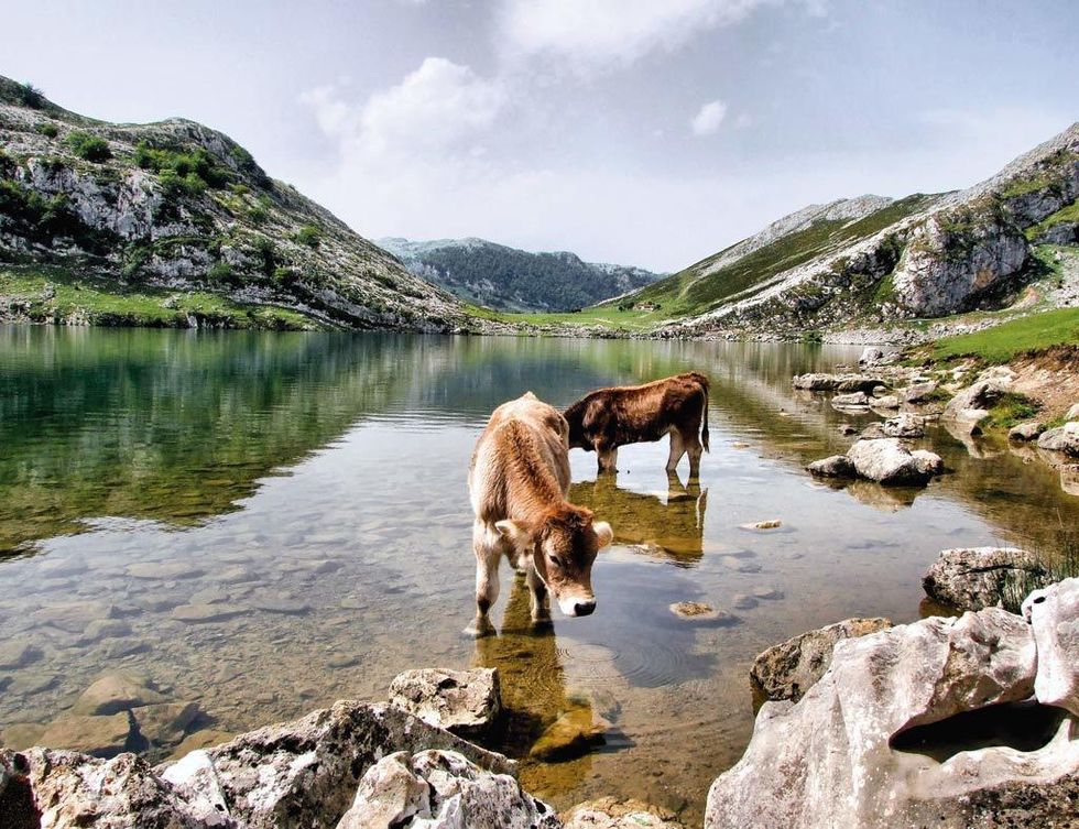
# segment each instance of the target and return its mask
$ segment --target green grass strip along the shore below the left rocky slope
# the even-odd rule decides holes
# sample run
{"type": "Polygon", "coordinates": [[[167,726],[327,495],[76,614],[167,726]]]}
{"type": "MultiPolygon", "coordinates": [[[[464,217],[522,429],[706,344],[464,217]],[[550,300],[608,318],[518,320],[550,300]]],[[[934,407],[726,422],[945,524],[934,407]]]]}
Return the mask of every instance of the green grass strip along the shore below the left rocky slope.
{"type": "Polygon", "coordinates": [[[208,291],[126,286],[112,279],[75,274],[62,268],[0,269],[0,310],[12,303],[29,303],[26,315],[34,321],[74,314],[91,325],[183,328],[187,327],[188,316],[195,315],[203,323],[228,328],[321,327],[290,308],[237,303],[208,291]]]}

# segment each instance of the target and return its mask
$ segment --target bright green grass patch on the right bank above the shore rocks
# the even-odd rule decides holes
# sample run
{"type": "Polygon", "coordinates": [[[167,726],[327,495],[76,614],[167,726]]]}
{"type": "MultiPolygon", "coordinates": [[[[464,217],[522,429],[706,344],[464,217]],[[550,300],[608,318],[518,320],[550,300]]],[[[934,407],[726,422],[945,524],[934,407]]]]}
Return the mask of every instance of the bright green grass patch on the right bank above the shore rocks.
{"type": "Polygon", "coordinates": [[[931,356],[940,361],[974,357],[989,364],[1000,364],[1026,351],[1053,346],[1079,346],[1079,308],[1046,310],[984,331],[945,337],[933,346],[931,356]]]}

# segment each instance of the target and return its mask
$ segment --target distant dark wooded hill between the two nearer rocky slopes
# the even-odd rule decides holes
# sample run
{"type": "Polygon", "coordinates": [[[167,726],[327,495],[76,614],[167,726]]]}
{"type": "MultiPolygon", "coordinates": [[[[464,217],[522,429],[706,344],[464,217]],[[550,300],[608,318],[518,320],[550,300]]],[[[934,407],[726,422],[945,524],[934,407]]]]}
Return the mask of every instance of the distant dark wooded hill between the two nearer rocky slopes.
{"type": "Polygon", "coordinates": [[[462,299],[501,310],[574,310],[660,279],[641,268],[530,253],[484,239],[379,239],[410,271],[462,299]]]}

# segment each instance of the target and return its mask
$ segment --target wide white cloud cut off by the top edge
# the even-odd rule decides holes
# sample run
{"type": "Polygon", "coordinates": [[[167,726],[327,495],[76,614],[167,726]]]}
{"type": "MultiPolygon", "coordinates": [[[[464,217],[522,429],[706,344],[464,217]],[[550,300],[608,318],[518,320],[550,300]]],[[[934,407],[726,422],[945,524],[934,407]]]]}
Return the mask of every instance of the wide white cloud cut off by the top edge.
{"type": "Polygon", "coordinates": [[[511,55],[548,54],[577,69],[625,66],[674,50],[778,0],[503,0],[501,42],[511,55]]]}

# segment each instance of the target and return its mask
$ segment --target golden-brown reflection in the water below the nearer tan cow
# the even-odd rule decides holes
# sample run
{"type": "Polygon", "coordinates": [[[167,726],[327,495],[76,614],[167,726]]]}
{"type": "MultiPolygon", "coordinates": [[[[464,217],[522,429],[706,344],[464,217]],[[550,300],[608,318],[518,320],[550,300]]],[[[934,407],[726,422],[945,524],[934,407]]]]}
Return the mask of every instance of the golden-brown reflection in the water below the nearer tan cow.
{"type": "MultiPolygon", "coordinates": [[[[514,579],[501,633],[476,641],[472,666],[499,669],[504,732],[491,742],[491,748],[536,763],[577,759],[590,762],[587,754],[592,744],[601,742],[601,735],[598,730],[590,731],[589,726],[599,720],[592,713],[589,695],[567,692],[554,625],[532,620],[523,577],[514,579]]],[[[556,778],[562,772],[579,779],[580,764],[570,766],[559,771],[530,762],[522,770],[522,782],[557,788],[556,778]]]]}

